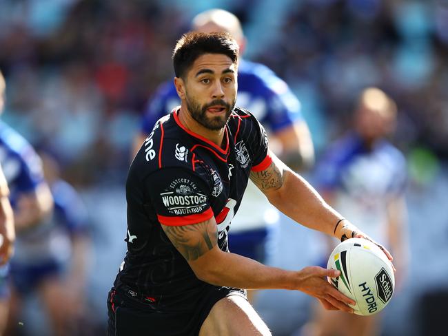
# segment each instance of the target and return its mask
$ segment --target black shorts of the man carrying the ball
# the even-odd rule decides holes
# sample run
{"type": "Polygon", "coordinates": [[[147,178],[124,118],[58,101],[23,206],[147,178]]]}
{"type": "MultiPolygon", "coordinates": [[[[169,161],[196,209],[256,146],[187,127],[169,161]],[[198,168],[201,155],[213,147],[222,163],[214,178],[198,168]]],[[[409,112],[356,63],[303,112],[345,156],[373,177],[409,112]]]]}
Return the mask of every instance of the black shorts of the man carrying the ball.
{"type": "Polygon", "coordinates": [[[210,286],[188,310],[158,311],[150,303],[112,288],[108,295],[108,336],[198,335],[214,304],[230,295],[246,298],[242,289],[210,286]]]}

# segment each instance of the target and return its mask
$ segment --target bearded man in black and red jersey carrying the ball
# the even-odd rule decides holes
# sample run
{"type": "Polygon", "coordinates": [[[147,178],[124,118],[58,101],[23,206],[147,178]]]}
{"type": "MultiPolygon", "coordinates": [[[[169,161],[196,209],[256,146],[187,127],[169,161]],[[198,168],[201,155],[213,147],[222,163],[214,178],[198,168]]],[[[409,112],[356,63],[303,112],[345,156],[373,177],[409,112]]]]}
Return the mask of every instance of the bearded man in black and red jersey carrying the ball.
{"type": "Polygon", "coordinates": [[[351,313],[354,302],[325,280],[338,271],[285,271],[228,251],[249,178],[307,227],[367,236],[276,158],[250,112],[234,107],[238,45],[229,34],[185,34],[173,63],[181,107],[156,123],[126,182],[128,252],[108,296],[109,335],[270,335],[240,288],[299,290],[351,313]]]}

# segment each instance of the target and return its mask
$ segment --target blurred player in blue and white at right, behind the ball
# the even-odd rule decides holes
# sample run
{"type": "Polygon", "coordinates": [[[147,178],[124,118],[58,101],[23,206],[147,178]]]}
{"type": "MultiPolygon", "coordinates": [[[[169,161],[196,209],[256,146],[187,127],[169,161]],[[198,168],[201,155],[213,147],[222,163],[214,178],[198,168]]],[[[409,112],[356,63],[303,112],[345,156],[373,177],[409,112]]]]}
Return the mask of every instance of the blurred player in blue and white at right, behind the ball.
{"type": "MultiPolygon", "coordinates": [[[[363,90],[354,112],[354,129],[328,148],[316,167],[316,182],[337,211],[360,223],[367,234],[387,242],[394,253],[396,287],[400,288],[408,261],[407,168],[403,154],[387,140],[396,114],[396,103],[385,92],[375,87],[363,90]]],[[[334,246],[336,242],[328,242],[324,266],[334,246]]],[[[301,335],[377,335],[379,316],[338,314],[316,307],[314,319],[301,335]]]]}

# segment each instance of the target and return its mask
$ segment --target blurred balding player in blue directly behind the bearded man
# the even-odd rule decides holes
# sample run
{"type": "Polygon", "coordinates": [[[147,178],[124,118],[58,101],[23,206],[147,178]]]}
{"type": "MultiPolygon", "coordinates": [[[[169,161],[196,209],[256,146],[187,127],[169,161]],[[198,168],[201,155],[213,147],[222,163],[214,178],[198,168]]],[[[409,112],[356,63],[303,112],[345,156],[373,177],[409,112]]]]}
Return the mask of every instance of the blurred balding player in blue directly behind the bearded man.
{"type": "MultiPolygon", "coordinates": [[[[192,29],[199,32],[229,32],[245,49],[245,36],[238,18],[225,10],[201,12],[192,20],[192,29]]],[[[134,140],[134,153],[150,134],[156,120],[180,104],[174,83],[167,81],[150,99],[140,133],[134,140]]],[[[314,162],[314,148],[301,105],[287,84],[272,70],[260,63],[240,59],[236,105],[249,109],[269,132],[276,155],[298,171],[314,162]]],[[[230,251],[266,263],[275,248],[279,213],[267,198],[249,181],[238,215],[232,220],[230,251]]],[[[254,291],[248,291],[253,302],[254,291]]]]}

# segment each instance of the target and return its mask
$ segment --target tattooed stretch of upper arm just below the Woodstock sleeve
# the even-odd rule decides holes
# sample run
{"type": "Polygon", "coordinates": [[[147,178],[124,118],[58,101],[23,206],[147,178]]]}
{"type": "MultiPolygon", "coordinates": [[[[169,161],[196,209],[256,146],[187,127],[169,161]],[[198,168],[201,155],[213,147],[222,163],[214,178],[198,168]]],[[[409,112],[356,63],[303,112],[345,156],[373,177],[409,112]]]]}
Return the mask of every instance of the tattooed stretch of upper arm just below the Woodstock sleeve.
{"type": "Polygon", "coordinates": [[[210,229],[207,222],[180,227],[169,227],[162,225],[176,249],[187,261],[193,261],[213,249],[218,241],[216,229],[210,229]]]}

